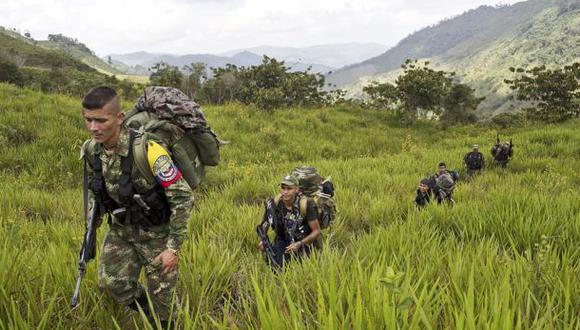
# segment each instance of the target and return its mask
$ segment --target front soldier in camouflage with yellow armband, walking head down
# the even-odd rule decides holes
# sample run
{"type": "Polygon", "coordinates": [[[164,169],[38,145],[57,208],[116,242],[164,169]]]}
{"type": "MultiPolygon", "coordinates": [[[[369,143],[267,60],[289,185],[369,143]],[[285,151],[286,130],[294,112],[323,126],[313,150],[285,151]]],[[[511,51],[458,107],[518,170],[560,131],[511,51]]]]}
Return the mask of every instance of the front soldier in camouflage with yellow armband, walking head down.
{"type": "Polygon", "coordinates": [[[141,307],[150,321],[156,314],[167,327],[173,318],[170,304],[179,250],[193,209],[192,190],[161,141],[145,141],[143,135],[123,126],[124,114],[113,89],[94,88],[82,105],[92,136],[82,148],[92,202],[104,205],[109,214],[99,287],[119,304],[134,310],[141,307]],[[147,175],[135,166],[137,143],[147,146],[147,175]],[[146,179],[151,174],[155,177],[152,182],[146,179]],[[147,290],[139,283],[143,268],[147,290]]]}

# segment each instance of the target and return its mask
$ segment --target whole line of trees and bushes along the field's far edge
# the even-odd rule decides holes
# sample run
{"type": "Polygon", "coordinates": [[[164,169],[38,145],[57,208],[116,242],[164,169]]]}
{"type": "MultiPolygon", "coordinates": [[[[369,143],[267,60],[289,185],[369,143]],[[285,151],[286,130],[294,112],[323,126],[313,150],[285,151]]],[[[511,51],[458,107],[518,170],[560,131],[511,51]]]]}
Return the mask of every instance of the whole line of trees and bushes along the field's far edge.
{"type": "MultiPolygon", "coordinates": [[[[475,90],[461,83],[454,72],[435,70],[429,62],[410,59],[403,63],[402,70],[394,83],[373,81],[364,86],[363,100],[347,99],[344,90],[333,89],[320,73],[310,69],[292,72],[284,61],[268,56],[263,57],[260,65],[228,64],[209,70],[203,63],[178,68],[161,62],[151,67],[150,84],[179,88],[201,104],[239,102],[265,110],[349,104],[393,111],[404,123],[430,116],[438,117],[445,125],[477,120],[476,109],[484,97],[476,96],[475,90]]],[[[96,85],[109,85],[130,99],[138,97],[144,87],[115,76],[85,71],[65,67],[20,68],[0,58],[0,82],[44,92],[83,95],[96,85]]],[[[510,74],[513,77],[504,82],[513,90],[512,98],[526,101],[527,106],[521,114],[509,116],[523,115],[544,122],[580,117],[580,63],[556,69],[510,68],[510,74]]]]}

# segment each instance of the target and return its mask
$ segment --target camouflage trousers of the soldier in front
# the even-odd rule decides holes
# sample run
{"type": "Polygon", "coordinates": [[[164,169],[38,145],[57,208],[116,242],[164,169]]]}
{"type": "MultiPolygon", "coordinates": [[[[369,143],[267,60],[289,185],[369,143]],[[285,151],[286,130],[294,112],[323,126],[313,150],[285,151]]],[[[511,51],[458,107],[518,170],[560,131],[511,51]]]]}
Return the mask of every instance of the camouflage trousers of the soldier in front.
{"type": "MultiPolygon", "coordinates": [[[[145,230],[113,223],[105,237],[99,264],[99,288],[117,303],[131,304],[145,294],[139,283],[145,269],[147,293],[160,320],[171,318],[170,309],[177,283],[177,267],[161,275],[163,265],[155,258],[166,249],[167,227],[145,230]]],[[[175,299],[177,301],[177,299],[175,299]]]]}

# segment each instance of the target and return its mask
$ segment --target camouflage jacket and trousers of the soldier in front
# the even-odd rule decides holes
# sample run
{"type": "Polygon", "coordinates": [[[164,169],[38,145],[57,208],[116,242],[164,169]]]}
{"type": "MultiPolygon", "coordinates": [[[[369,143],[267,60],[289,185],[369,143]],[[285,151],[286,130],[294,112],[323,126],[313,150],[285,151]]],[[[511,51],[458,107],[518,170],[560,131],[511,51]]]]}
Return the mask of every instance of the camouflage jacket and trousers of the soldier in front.
{"type": "MultiPolygon", "coordinates": [[[[141,138],[138,135],[136,140],[141,138]]],[[[120,164],[121,158],[127,157],[129,152],[129,131],[126,128],[121,130],[113,151],[90,141],[83,146],[83,155],[88,160],[89,182],[94,177],[92,159],[100,157],[107,194],[119,203],[120,164]]],[[[135,163],[133,165],[131,180],[136,190],[145,192],[153,188],[156,183],[149,182],[135,163]]],[[[171,318],[170,305],[178,270],[176,267],[173,272],[161,275],[162,263],[155,257],[167,248],[179,250],[186,238],[187,222],[193,208],[193,193],[185,179],[177,179],[165,187],[164,192],[171,210],[169,223],[153,227],[123,225],[110,216],[110,231],[105,237],[99,264],[99,287],[124,305],[143,297],[145,290],[139,283],[139,274],[144,267],[147,290],[160,320],[171,318]]]]}

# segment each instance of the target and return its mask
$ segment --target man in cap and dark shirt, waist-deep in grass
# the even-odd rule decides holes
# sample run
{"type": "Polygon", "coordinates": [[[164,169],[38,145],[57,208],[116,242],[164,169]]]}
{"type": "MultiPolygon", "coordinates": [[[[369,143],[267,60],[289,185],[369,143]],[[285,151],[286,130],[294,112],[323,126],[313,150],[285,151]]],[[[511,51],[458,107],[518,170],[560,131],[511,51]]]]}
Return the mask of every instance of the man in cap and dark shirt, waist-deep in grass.
{"type": "MultiPolygon", "coordinates": [[[[311,198],[299,192],[298,179],[287,175],[280,181],[280,194],[266,203],[264,220],[260,224],[264,233],[272,227],[276,234],[272,260],[273,267],[282,267],[293,257],[302,258],[315,248],[320,236],[317,209],[311,198]]],[[[265,252],[269,242],[261,239],[258,249],[265,252]]]]}

